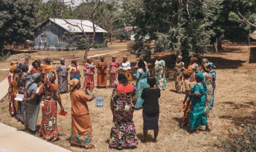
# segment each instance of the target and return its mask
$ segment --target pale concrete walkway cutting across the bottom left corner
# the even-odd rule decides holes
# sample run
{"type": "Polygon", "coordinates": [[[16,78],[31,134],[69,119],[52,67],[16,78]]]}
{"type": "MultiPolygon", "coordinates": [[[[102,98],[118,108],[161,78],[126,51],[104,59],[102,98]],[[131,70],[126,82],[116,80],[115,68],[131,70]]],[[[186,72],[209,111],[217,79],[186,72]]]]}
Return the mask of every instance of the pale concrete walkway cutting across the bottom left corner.
{"type": "Polygon", "coordinates": [[[0,130],[1,152],[71,152],[2,123],[0,130]]]}

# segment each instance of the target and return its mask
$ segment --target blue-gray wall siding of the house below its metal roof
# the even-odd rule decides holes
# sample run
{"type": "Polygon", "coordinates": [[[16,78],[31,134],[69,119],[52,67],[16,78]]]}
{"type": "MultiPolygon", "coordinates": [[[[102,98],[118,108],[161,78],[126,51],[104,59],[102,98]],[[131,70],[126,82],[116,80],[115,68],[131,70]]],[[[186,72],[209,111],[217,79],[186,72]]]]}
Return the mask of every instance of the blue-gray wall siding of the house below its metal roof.
{"type": "MultiPolygon", "coordinates": [[[[64,29],[53,23],[48,25],[48,22],[43,23],[40,28],[34,30],[34,49],[36,50],[57,50],[57,46],[64,48],[69,43],[58,43],[58,36],[64,35],[64,29]],[[40,35],[46,35],[47,42],[41,42],[40,35]]],[[[81,33],[80,33],[81,34],[81,33]]],[[[87,36],[93,33],[87,33],[87,36]]],[[[92,39],[89,39],[92,43],[92,39]]],[[[96,33],[95,43],[103,43],[103,33],[96,33]]]]}

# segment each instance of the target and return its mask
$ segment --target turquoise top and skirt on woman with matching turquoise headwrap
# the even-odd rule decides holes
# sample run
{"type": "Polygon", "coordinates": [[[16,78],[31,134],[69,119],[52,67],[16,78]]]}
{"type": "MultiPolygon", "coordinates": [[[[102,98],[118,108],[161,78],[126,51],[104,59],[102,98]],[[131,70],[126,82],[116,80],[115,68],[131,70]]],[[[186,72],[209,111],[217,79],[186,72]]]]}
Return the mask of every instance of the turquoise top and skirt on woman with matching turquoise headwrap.
{"type": "Polygon", "coordinates": [[[204,103],[206,101],[206,95],[204,93],[204,87],[197,83],[190,90],[191,93],[200,95],[198,97],[192,97],[191,100],[191,109],[189,116],[189,127],[191,130],[197,129],[200,126],[208,125],[206,116],[204,113],[204,103]]]}

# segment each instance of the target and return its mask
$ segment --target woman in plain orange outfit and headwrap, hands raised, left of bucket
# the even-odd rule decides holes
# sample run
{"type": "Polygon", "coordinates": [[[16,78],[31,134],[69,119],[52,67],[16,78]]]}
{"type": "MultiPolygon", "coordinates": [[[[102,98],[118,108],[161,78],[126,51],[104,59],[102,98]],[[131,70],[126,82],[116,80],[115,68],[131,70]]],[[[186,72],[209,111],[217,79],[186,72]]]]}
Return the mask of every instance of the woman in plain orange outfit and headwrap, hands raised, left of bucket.
{"type": "Polygon", "coordinates": [[[93,98],[91,94],[86,95],[83,90],[79,90],[81,84],[78,79],[70,80],[69,85],[73,87],[70,91],[72,115],[70,143],[85,148],[93,148],[94,145],[91,144],[92,124],[87,105],[87,102],[93,98]]]}

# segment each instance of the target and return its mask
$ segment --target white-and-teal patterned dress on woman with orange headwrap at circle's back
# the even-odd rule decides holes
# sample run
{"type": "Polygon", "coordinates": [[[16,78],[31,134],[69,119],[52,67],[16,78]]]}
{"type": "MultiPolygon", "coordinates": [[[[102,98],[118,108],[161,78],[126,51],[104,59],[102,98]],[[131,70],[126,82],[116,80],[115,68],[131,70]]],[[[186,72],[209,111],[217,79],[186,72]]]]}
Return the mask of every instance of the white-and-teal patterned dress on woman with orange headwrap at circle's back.
{"type": "Polygon", "coordinates": [[[166,79],[165,79],[165,71],[162,78],[163,67],[165,67],[164,60],[156,60],[155,61],[155,78],[156,78],[156,86],[157,88],[164,89],[166,87],[166,79]]]}

